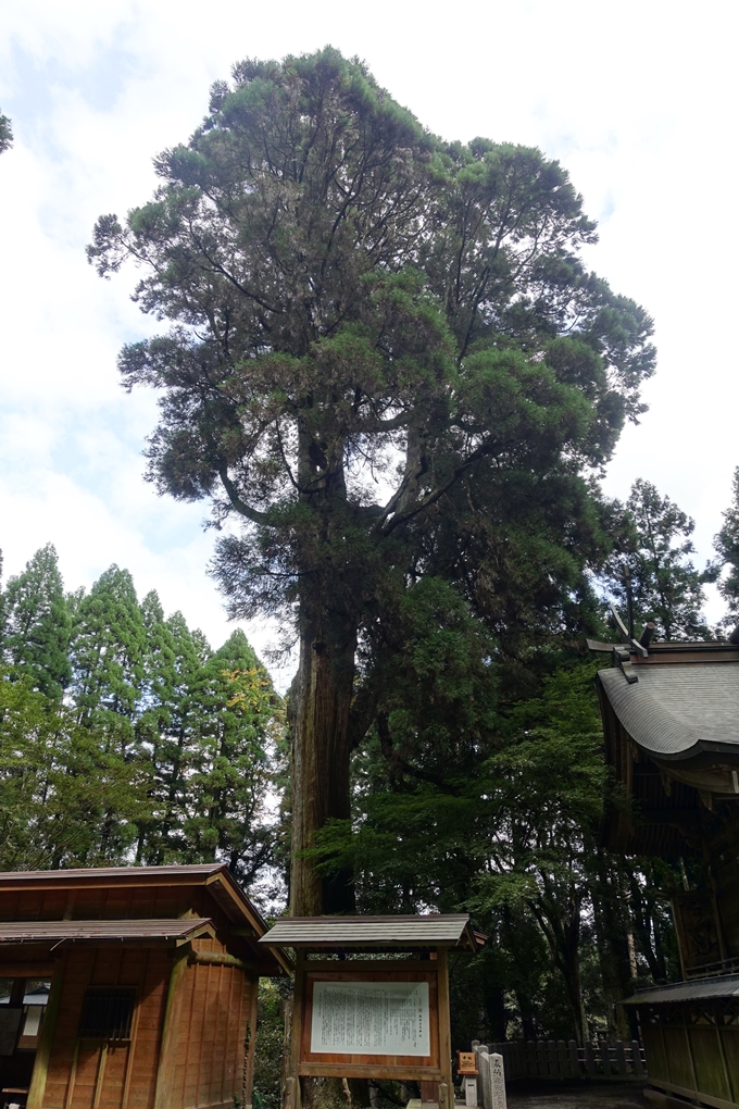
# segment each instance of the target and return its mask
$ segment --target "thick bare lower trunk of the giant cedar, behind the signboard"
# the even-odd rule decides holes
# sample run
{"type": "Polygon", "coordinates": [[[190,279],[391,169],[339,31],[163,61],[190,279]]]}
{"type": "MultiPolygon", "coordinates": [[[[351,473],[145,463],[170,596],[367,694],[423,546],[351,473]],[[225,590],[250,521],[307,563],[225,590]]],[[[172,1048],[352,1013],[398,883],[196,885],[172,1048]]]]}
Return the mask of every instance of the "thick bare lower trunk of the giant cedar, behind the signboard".
{"type": "MultiPolygon", "coordinates": [[[[307,593],[310,587],[305,587],[307,593]]],[[[348,820],[349,713],[357,629],[332,611],[331,598],[301,598],[300,663],[290,690],[292,719],[292,851],[290,915],[352,913],[351,874],[321,877],[305,857],[333,817],[348,820]]]]}

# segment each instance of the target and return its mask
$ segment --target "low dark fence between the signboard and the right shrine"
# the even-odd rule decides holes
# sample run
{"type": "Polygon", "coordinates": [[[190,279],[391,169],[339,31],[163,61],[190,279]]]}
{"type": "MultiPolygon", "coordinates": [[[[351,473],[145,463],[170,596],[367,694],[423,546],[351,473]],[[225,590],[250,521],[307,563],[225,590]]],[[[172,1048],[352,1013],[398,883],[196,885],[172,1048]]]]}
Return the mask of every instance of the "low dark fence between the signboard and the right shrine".
{"type": "MultiPolygon", "coordinates": [[[[646,1078],[644,1048],[638,1040],[585,1044],[575,1040],[507,1040],[503,1044],[472,1041],[478,1052],[480,1085],[489,1081],[490,1056],[503,1056],[506,1080],[516,1078],[646,1078]]],[[[481,1101],[481,1103],[483,1103],[481,1101]]],[[[487,1109],[487,1107],[485,1107],[487,1109]]]]}

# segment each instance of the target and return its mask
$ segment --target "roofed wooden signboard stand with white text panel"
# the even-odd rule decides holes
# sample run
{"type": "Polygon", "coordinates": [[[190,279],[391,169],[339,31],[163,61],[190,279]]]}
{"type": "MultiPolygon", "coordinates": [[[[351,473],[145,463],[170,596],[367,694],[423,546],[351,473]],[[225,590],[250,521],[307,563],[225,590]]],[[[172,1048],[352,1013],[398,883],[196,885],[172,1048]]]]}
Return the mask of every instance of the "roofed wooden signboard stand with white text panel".
{"type": "Polygon", "coordinates": [[[448,952],[481,946],[466,914],[291,917],[260,943],[296,950],[286,1109],[308,1077],[415,1080],[453,1109],[448,952]]]}

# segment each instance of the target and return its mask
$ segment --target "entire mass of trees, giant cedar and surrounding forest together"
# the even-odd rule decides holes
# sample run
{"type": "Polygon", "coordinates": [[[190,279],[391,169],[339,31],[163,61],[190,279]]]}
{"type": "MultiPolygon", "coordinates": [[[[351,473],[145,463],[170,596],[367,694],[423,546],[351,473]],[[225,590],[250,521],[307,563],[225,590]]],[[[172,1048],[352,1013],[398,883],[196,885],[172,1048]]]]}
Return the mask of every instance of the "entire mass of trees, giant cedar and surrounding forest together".
{"type": "Polygon", "coordinates": [[[171,325],[120,358],[160,395],[147,477],[209,502],[230,614],[297,674],[281,699],[242,631],[214,650],[116,566],[66,592],[44,547],[0,594],[0,866],[224,859],[270,913],[469,910],[456,1045],[630,1036],[613,1003],[677,973],[691,878],[599,845],[585,638],[617,639],[625,570],[637,633],[727,633],[739,471],[702,571],[647,480],[603,495],[651,322],[537,150],[442,142],[327,48],[234,67],[155,164],[89,247],[171,325]]]}

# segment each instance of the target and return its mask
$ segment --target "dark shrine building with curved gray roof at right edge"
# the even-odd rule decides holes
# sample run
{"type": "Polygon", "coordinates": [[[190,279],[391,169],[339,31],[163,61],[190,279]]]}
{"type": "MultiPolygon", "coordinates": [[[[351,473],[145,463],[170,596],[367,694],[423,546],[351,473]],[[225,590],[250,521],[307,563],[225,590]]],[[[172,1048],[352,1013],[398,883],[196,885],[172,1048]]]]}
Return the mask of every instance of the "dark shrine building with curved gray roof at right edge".
{"type": "Polygon", "coordinates": [[[639,990],[650,1098],[739,1105],[739,649],[612,648],[598,672],[613,783],[604,843],[684,861],[673,909],[681,983],[639,990]],[[687,881],[687,874],[690,881],[687,881]]]}

